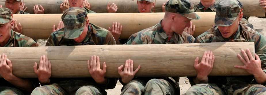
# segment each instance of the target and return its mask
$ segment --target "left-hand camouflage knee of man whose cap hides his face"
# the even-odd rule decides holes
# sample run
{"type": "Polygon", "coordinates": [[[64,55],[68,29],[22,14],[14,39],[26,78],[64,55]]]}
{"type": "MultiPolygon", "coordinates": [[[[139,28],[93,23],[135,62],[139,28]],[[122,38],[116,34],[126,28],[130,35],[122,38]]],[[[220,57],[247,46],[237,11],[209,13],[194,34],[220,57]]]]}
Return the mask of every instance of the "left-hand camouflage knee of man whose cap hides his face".
{"type": "Polygon", "coordinates": [[[67,95],[58,84],[50,84],[35,88],[31,95],[67,95]]]}

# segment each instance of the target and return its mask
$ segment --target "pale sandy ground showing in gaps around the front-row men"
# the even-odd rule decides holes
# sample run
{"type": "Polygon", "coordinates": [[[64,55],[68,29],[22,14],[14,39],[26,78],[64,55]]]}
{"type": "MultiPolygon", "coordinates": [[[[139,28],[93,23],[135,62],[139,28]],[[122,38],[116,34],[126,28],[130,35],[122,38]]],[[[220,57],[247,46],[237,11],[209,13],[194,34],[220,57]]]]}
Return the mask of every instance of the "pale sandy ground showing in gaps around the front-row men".
{"type": "MultiPolygon", "coordinates": [[[[250,17],[248,20],[251,24],[253,24],[254,29],[260,29],[260,33],[266,36],[266,19],[256,18],[256,17],[250,17]]],[[[45,46],[46,41],[45,40],[38,40],[38,44],[40,46],[45,46]]],[[[184,94],[191,85],[189,84],[189,80],[187,77],[180,77],[179,80],[179,86],[180,86],[180,94],[184,94]]],[[[117,85],[114,89],[106,90],[108,95],[119,95],[121,93],[121,88],[123,85],[120,82],[117,82],[117,85]]]]}

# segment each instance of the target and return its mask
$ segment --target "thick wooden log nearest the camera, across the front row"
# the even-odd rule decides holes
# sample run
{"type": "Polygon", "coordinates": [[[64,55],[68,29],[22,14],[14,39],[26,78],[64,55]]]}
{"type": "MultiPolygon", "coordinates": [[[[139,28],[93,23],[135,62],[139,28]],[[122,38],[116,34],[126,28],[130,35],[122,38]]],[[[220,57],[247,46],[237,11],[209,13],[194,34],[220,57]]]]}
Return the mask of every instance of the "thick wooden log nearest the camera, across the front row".
{"type": "Polygon", "coordinates": [[[134,69],[141,66],[138,77],[195,76],[194,59],[202,58],[204,51],[213,51],[214,67],[210,76],[250,75],[234,65],[244,65],[238,58],[241,49],[250,49],[254,55],[254,42],[217,42],[201,44],[149,44],[149,45],[87,45],[0,48],[12,61],[13,73],[18,77],[36,77],[33,65],[42,55],[48,56],[52,77],[90,77],[87,60],[93,55],[106,62],[106,77],[119,77],[117,67],[126,59],[134,60],[134,69]]]}

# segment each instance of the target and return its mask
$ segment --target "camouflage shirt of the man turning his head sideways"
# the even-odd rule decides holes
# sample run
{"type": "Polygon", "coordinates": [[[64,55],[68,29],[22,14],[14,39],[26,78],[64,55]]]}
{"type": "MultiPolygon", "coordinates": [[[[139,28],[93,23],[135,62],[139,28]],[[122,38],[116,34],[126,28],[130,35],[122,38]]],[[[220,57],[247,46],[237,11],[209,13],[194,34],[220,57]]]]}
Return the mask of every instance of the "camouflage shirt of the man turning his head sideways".
{"type": "Polygon", "coordinates": [[[181,35],[174,33],[169,38],[161,27],[161,22],[150,28],[141,30],[130,36],[126,44],[184,44],[193,43],[195,38],[186,32],[181,35]]]}

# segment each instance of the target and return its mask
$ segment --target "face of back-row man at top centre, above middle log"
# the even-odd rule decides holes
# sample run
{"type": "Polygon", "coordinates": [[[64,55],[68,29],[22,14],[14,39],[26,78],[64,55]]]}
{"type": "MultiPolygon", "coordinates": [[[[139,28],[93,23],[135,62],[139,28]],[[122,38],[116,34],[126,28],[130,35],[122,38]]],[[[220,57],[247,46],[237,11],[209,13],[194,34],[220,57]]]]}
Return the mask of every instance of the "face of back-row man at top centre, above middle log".
{"type": "Polygon", "coordinates": [[[137,1],[138,4],[138,11],[140,13],[150,13],[152,7],[155,5],[155,3],[151,3],[148,1],[137,1]]]}

